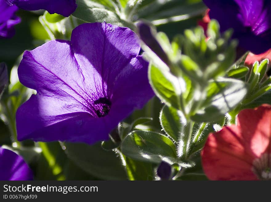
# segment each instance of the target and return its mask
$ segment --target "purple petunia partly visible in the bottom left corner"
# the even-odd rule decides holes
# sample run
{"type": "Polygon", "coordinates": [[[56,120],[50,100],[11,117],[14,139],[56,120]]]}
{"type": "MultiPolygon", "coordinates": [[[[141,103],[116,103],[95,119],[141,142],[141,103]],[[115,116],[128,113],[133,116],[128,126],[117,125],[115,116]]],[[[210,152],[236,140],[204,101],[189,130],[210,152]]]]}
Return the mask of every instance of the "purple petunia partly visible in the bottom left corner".
{"type": "Polygon", "coordinates": [[[33,173],[21,156],[0,147],[0,180],[33,180],[33,173]]]}

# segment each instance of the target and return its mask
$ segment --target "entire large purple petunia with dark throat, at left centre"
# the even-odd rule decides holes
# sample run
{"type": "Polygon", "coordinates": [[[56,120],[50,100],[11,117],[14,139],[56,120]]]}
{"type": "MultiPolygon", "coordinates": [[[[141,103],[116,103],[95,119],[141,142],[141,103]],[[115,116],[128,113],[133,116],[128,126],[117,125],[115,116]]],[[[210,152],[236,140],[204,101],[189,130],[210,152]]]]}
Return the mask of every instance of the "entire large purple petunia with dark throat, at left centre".
{"type": "Polygon", "coordinates": [[[71,41],[25,51],[19,80],[37,95],[17,111],[18,140],[107,140],[119,121],[154,95],[139,51],[133,31],[106,23],[82,24],[71,41]]]}

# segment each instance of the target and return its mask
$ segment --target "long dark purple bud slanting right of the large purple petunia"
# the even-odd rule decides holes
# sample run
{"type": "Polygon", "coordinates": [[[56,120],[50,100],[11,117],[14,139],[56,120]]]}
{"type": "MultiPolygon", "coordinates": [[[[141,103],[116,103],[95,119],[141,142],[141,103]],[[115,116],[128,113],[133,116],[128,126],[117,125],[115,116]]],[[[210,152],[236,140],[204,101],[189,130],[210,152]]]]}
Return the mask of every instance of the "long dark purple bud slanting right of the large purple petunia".
{"type": "Polygon", "coordinates": [[[153,36],[151,27],[145,22],[139,22],[137,24],[139,36],[141,40],[154,52],[158,57],[161,58],[164,63],[168,64],[168,56],[153,36]]]}

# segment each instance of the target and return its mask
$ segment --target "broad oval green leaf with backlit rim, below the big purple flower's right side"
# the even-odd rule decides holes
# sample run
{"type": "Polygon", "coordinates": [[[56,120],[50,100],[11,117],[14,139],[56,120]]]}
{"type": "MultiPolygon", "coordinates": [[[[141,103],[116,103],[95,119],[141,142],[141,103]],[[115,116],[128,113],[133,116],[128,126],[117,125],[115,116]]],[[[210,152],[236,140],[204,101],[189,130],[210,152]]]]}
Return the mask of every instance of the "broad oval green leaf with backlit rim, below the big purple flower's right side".
{"type": "Polygon", "coordinates": [[[135,160],[156,164],[165,160],[172,164],[181,164],[183,167],[192,166],[178,160],[174,143],[159,133],[134,131],[124,138],[120,148],[125,156],[135,160]]]}

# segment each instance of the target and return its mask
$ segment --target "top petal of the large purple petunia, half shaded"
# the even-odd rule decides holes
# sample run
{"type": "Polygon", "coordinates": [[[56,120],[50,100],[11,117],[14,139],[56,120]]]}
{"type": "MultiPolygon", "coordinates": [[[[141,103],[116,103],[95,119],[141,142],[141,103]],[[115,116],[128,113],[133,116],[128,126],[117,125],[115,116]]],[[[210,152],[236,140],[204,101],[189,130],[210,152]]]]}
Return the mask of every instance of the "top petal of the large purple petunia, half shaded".
{"type": "Polygon", "coordinates": [[[103,78],[103,91],[140,51],[140,39],[133,31],[107,23],[85,23],[76,27],[71,43],[78,63],[92,67],[103,78]]]}

